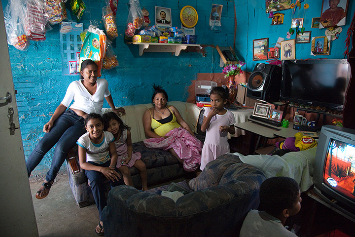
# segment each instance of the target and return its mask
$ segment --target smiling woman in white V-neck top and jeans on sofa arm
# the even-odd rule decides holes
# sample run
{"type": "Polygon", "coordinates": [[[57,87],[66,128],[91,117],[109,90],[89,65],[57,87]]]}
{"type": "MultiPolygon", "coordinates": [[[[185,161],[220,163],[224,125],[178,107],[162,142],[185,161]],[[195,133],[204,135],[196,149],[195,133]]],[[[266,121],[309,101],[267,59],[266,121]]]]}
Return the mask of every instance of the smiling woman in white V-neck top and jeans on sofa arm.
{"type": "Polygon", "coordinates": [[[57,144],[50,169],[36,193],[38,199],[48,196],[54,178],[67,157],[68,150],[75,146],[78,138],[85,133],[84,118],[87,114],[100,113],[104,98],[114,113],[125,114],[123,108],[115,108],[108,90],[107,80],[97,77],[96,63],[90,59],[83,61],[80,68],[80,79],[70,83],[63,101],[43,126],[43,132],[45,132],[43,138],[26,160],[27,172],[30,177],[31,172],[44,155],[57,144]],[[74,103],[70,106],[73,99],[74,103]]]}

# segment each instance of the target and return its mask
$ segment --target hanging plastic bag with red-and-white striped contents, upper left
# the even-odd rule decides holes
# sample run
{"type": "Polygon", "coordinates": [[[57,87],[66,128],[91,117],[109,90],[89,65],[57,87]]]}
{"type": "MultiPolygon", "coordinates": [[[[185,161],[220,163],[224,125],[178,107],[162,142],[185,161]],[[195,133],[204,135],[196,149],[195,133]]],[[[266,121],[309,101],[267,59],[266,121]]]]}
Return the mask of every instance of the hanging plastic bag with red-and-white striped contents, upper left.
{"type": "Polygon", "coordinates": [[[45,40],[46,24],[53,9],[40,0],[27,1],[26,35],[30,40],[45,40]]]}

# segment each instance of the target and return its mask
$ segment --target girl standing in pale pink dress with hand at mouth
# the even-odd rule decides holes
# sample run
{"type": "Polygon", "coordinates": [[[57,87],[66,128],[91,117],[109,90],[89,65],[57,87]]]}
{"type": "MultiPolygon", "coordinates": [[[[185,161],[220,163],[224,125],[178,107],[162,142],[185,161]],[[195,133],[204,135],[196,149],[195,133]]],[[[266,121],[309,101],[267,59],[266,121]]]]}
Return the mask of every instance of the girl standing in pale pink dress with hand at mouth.
{"type": "Polygon", "coordinates": [[[230,151],[227,134],[235,133],[235,118],[224,108],[228,105],[228,97],[228,88],[221,86],[214,87],[210,93],[212,107],[206,108],[201,125],[201,130],[207,131],[201,155],[201,170],[208,162],[230,151]]]}

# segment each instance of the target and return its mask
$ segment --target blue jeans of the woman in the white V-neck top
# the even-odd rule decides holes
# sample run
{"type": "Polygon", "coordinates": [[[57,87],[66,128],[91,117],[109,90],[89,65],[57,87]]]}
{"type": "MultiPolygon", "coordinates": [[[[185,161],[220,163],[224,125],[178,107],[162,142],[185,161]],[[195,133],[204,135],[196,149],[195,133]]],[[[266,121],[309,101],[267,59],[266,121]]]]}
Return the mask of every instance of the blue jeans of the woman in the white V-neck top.
{"type": "Polygon", "coordinates": [[[78,116],[74,111],[67,110],[61,114],[53,124],[52,129],[44,134],[36,145],[35,150],[26,160],[27,172],[30,177],[31,172],[36,168],[44,155],[57,144],[52,163],[45,177],[46,181],[54,180],[67,158],[68,150],[75,146],[76,141],[86,132],[84,118],[78,116]]]}

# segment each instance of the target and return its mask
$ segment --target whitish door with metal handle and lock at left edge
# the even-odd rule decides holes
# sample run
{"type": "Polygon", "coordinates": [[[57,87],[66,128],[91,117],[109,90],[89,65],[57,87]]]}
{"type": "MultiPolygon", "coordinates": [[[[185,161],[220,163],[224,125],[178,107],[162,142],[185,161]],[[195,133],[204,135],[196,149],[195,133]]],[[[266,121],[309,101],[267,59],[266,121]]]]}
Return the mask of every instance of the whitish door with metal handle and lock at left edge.
{"type": "Polygon", "coordinates": [[[0,235],[38,236],[20,129],[10,131],[8,114],[19,126],[5,24],[0,1],[0,235]],[[11,94],[11,102],[6,99],[11,94]]]}

